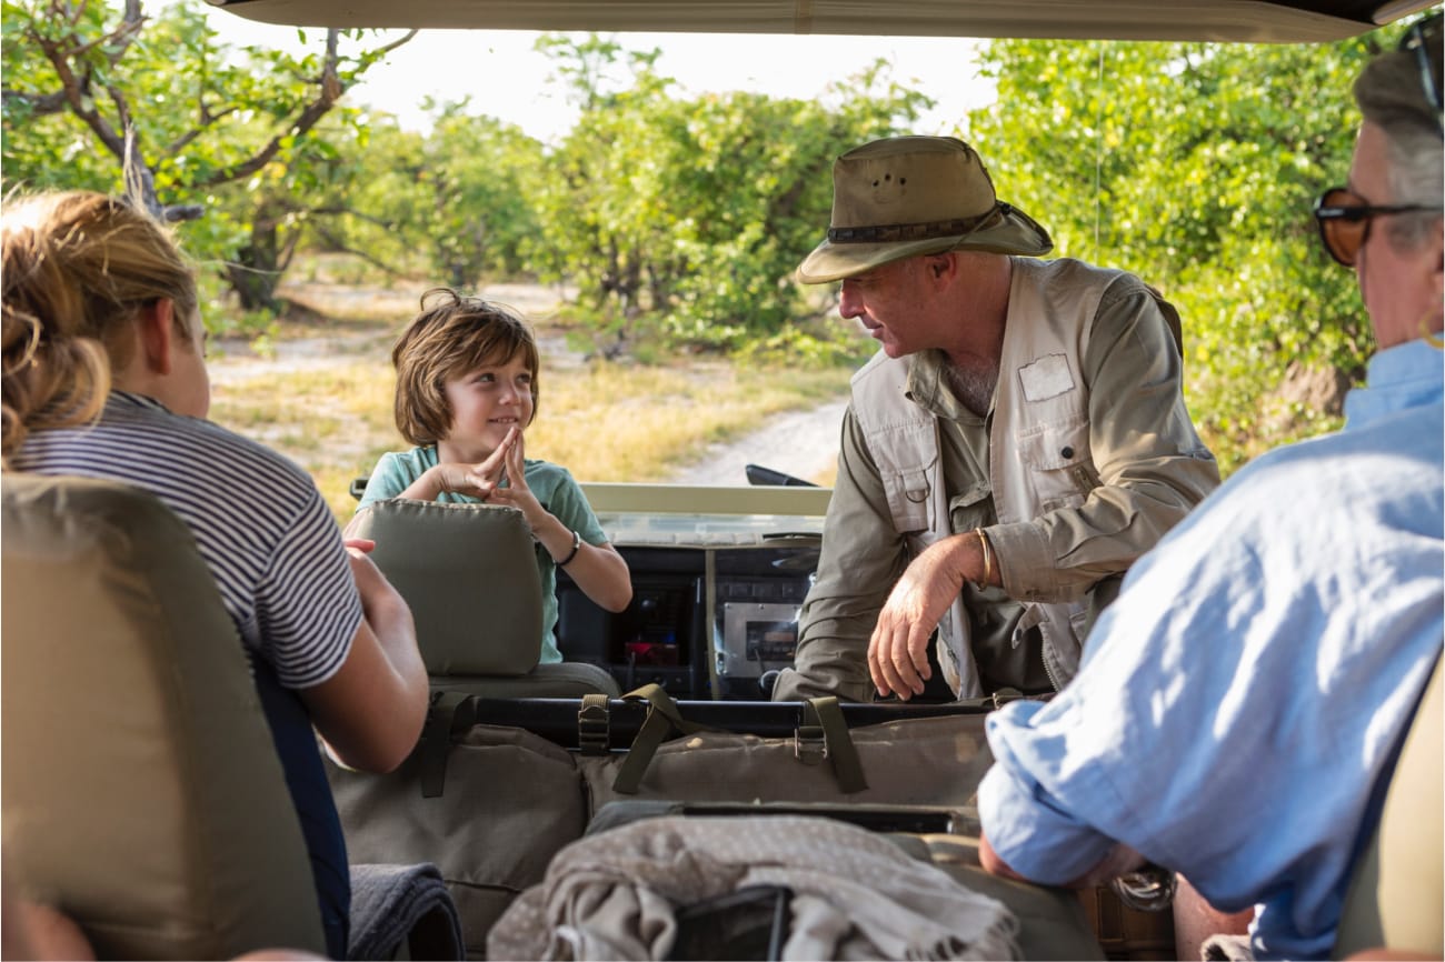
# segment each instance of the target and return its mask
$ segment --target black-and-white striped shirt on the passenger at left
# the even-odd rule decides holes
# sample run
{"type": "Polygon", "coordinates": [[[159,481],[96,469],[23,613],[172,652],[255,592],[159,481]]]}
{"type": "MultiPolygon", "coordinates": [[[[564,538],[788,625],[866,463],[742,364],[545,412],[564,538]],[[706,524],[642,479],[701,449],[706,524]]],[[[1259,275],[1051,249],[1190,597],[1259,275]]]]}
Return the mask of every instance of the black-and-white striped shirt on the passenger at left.
{"type": "Polygon", "coordinates": [[[241,640],[285,688],[325,682],[350,654],[361,599],[341,532],[311,477],[275,451],[111,391],[98,423],[35,432],[13,464],[159,497],[189,526],[241,640]]]}

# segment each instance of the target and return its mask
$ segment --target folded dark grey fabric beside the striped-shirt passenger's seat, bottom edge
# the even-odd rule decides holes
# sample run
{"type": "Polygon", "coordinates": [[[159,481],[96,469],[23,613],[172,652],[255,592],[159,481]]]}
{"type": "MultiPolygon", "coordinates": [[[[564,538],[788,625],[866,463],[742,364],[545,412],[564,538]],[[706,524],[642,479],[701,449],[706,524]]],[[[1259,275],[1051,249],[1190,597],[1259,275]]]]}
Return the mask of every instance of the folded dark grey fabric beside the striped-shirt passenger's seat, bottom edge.
{"type": "Polygon", "coordinates": [[[457,904],[431,862],[351,867],[351,945],[347,958],[461,959],[457,904]]]}

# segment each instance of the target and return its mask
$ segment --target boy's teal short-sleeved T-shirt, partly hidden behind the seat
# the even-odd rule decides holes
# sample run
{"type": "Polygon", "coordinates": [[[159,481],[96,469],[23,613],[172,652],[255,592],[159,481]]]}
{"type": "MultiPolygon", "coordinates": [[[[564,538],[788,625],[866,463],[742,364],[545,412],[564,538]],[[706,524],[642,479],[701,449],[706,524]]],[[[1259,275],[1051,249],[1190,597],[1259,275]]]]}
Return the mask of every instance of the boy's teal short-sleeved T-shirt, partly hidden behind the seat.
{"type": "MultiPolygon", "coordinates": [[[[381,455],[381,459],[376,462],[376,468],[371,469],[371,477],[367,478],[366,491],[357,503],[357,511],[373,501],[394,498],[412,487],[413,481],[426,474],[428,468],[435,468],[436,462],[436,445],[412,448],[410,451],[390,451],[381,455]]],[[[523,469],[532,494],[536,495],[542,507],[555,516],[556,520],[577,532],[578,537],[588,545],[607,543],[607,532],[603,530],[597,514],[592,513],[592,506],[587,503],[582,485],[572,478],[571,471],[551,461],[535,461],[532,458],[523,462],[523,469]]],[[[470,494],[455,494],[452,491],[442,491],[436,500],[457,504],[477,504],[481,501],[481,498],[474,498],[470,494]]],[[[553,630],[556,628],[558,618],[556,562],[540,547],[536,552],[536,558],[538,576],[542,579],[542,656],[538,659],[538,663],[556,664],[562,660],[562,651],[556,646],[556,633],[553,630]]]]}

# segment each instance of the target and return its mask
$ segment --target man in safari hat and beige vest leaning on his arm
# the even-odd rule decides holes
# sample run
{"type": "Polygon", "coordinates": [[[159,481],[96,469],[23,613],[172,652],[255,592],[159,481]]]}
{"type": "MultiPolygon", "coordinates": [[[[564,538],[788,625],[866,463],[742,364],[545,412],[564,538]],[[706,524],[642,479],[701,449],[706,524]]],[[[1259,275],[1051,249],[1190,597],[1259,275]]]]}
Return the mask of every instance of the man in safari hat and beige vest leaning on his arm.
{"type": "Polygon", "coordinates": [[[1179,315],[997,199],[954,137],[834,163],[828,238],[880,344],[853,378],[818,578],[773,698],[1061,689],[1129,565],[1220,484],[1181,393],[1179,315]]]}

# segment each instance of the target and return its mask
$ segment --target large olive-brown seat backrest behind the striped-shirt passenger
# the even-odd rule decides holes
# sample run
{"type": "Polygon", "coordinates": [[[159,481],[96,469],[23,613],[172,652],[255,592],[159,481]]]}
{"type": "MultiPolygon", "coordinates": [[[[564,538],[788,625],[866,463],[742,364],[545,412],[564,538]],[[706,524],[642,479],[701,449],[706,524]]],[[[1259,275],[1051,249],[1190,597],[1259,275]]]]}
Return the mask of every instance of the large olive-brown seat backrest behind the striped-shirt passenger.
{"type": "Polygon", "coordinates": [[[0,487],[10,878],[100,958],[325,952],[266,716],[189,529],[110,481],[0,487]]]}

